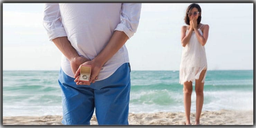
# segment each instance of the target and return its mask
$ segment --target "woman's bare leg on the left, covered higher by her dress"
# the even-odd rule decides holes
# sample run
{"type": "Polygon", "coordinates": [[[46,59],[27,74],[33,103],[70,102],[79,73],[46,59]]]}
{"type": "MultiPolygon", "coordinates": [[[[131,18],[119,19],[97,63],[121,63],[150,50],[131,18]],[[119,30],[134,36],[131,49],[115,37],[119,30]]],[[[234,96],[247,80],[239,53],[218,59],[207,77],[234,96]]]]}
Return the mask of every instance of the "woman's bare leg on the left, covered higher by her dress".
{"type": "Polygon", "coordinates": [[[183,93],[184,93],[184,108],[186,115],[186,125],[191,125],[190,123],[190,108],[191,108],[191,94],[193,91],[192,81],[184,82],[183,93]]]}

